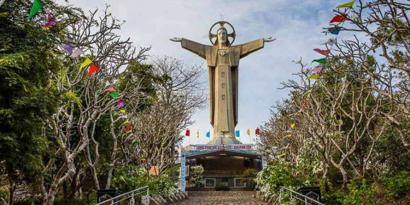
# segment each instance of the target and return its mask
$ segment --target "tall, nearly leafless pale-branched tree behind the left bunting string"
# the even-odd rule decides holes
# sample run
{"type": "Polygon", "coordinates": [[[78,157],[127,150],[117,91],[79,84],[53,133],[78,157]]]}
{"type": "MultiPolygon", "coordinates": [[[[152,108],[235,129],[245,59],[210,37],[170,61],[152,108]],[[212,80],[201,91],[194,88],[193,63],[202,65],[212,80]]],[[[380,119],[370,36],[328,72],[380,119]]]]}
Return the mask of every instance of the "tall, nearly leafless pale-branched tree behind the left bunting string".
{"type": "MultiPolygon", "coordinates": [[[[55,75],[57,88],[63,97],[56,105],[56,112],[50,122],[50,128],[58,143],[56,150],[50,150],[45,172],[51,177],[51,185],[46,189],[46,181],[42,178],[42,196],[44,204],[53,204],[54,196],[59,187],[67,180],[73,179],[78,172],[75,159],[78,154],[86,152],[93,178],[98,188],[95,169],[89,156],[90,141],[98,147],[94,139],[94,127],[99,117],[108,113],[117,103],[117,98],[111,98],[104,90],[105,81],[115,83],[131,62],[145,58],[145,52],[150,48],[141,48],[136,52],[129,39],[122,40],[115,34],[121,23],[104,10],[102,17],[96,17],[97,10],[90,12],[75,24],[69,25],[74,42],[89,56],[93,64],[99,68],[99,73],[105,77],[98,79],[96,73],[87,75],[86,68],[78,69],[84,60],[62,59],[60,72],[55,75]],[[90,129],[91,128],[91,129],[90,129]],[[61,163],[56,163],[60,159],[61,163]],[[56,172],[54,172],[56,171],[56,172]]],[[[127,89],[125,89],[127,90],[127,89]]],[[[121,96],[121,94],[120,94],[121,96]]],[[[97,159],[98,160],[98,159],[97,159]]],[[[96,160],[96,161],[97,161],[96,160]]]]}

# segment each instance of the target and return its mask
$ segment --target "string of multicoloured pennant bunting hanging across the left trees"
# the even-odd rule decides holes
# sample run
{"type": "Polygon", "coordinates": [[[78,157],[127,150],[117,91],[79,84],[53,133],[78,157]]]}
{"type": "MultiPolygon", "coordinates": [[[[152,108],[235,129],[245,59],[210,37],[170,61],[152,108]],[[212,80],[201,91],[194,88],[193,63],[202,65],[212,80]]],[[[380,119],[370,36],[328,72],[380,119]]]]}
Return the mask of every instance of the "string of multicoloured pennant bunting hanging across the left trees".
{"type": "MultiPolygon", "coordinates": [[[[39,10],[41,10],[42,8],[43,8],[42,3],[40,3],[39,0],[34,0],[27,20],[30,20],[30,18],[34,14],[36,14],[39,10]]],[[[43,31],[48,31],[50,29],[50,27],[52,27],[54,24],[56,24],[56,20],[53,18],[53,16],[51,14],[48,14],[47,15],[47,22],[43,26],[42,30],[43,31]]],[[[63,29],[60,29],[60,34],[64,39],[65,38],[65,32],[64,32],[63,29]]],[[[71,38],[66,38],[66,44],[65,44],[64,48],[67,50],[67,52],[69,54],[71,54],[71,57],[77,57],[77,56],[80,56],[81,54],[84,54],[84,52],[79,47],[77,47],[75,45],[74,40],[71,39],[71,38]]],[[[83,68],[87,68],[87,67],[89,67],[87,77],[92,75],[93,73],[97,73],[96,77],[98,78],[98,80],[101,80],[103,77],[105,77],[105,73],[100,72],[100,69],[98,69],[97,65],[95,65],[89,57],[86,57],[84,62],[80,65],[79,70],[81,70],[83,68]]],[[[125,141],[128,141],[128,140],[132,139],[132,142],[131,142],[131,145],[130,145],[131,153],[133,153],[133,154],[136,153],[136,156],[139,157],[142,165],[148,165],[148,160],[144,156],[144,153],[142,152],[142,150],[139,149],[138,143],[136,141],[136,137],[133,133],[130,121],[129,121],[128,116],[127,116],[127,112],[124,109],[124,103],[123,103],[124,99],[122,97],[119,97],[119,94],[116,92],[114,87],[111,86],[111,84],[108,80],[106,81],[106,85],[104,86],[104,88],[106,88],[106,89],[103,92],[110,92],[110,96],[112,98],[118,98],[117,108],[120,109],[120,110],[118,112],[119,116],[115,121],[117,121],[118,119],[121,119],[121,118],[126,119],[119,126],[119,129],[122,130],[121,133],[124,133],[124,134],[122,134],[122,137],[124,138],[126,136],[125,141]]]]}

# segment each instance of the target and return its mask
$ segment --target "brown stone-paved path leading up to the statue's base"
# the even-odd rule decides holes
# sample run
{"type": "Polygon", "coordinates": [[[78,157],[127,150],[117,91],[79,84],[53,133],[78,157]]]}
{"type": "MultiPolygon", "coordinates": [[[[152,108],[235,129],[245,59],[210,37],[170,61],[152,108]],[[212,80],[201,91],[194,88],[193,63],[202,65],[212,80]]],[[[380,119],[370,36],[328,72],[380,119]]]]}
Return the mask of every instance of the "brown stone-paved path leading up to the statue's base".
{"type": "Polygon", "coordinates": [[[195,205],[256,205],[267,204],[256,198],[254,191],[191,191],[189,199],[174,204],[195,205]],[[255,198],[252,198],[255,195],[255,198]]]}

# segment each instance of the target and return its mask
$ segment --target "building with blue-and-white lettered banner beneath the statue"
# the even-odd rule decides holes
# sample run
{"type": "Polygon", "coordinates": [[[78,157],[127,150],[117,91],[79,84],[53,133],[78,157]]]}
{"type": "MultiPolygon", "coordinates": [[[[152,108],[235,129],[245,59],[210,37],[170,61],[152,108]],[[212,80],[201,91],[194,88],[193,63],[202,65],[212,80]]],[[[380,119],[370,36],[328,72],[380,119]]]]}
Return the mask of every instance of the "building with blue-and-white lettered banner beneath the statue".
{"type": "Polygon", "coordinates": [[[261,155],[252,144],[242,144],[239,140],[226,137],[214,138],[206,145],[190,145],[183,148],[186,152],[186,185],[190,186],[190,168],[201,165],[204,169],[204,188],[214,188],[220,183],[231,188],[252,188],[241,179],[247,169],[262,170],[261,155]],[[228,142],[221,144],[221,141],[228,142]]]}

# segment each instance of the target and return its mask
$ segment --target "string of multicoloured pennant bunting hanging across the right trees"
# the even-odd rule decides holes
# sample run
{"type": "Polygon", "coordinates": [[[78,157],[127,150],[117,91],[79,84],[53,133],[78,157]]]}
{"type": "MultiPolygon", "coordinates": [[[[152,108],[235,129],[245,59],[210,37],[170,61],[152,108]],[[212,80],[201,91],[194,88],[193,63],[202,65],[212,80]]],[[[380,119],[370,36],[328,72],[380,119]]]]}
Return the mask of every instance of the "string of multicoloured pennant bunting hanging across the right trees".
{"type": "MultiPolygon", "coordinates": [[[[320,77],[319,73],[322,71],[322,68],[323,68],[324,64],[330,58],[329,54],[332,50],[333,45],[336,43],[337,36],[338,36],[338,34],[339,34],[339,32],[341,31],[341,28],[342,28],[341,26],[339,26],[339,24],[342,24],[342,26],[343,26],[344,20],[346,19],[346,17],[348,16],[348,13],[352,9],[353,5],[355,4],[355,1],[356,0],[353,0],[351,2],[341,4],[341,5],[336,7],[337,9],[346,8],[345,11],[344,11],[345,14],[334,16],[329,22],[329,24],[332,24],[331,26],[333,26],[333,27],[327,28],[326,31],[323,31],[325,33],[325,35],[327,35],[327,33],[331,33],[331,34],[336,35],[335,38],[329,38],[329,40],[327,40],[327,42],[324,42],[323,44],[321,44],[321,45],[326,46],[326,50],[322,50],[322,49],[319,49],[319,48],[313,49],[314,51],[324,55],[325,57],[312,60],[312,63],[313,62],[319,63],[319,66],[317,66],[314,69],[310,69],[308,71],[308,73],[315,72],[315,74],[306,77],[306,80],[310,80],[310,79],[315,79],[316,80],[315,83],[312,85],[312,88],[316,85],[317,79],[320,77]],[[328,45],[330,46],[330,49],[327,49],[328,45]]],[[[285,136],[284,136],[284,139],[283,139],[283,147],[280,150],[281,154],[279,154],[279,158],[280,158],[279,162],[280,162],[281,165],[285,164],[286,156],[288,155],[288,150],[289,150],[289,148],[291,146],[291,143],[292,143],[292,131],[295,128],[295,126],[297,124],[300,124],[300,122],[301,122],[301,120],[300,120],[301,113],[303,112],[303,108],[305,107],[306,103],[308,102],[309,97],[311,96],[311,91],[312,91],[312,89],[310,89],[309,91],[307,91],[306,93],[303,94],[303,95],[306,95],[306,94],[307,95],[306,95],[306,98],[303,101],[302,106],[300,107],[300,109],[296,113],[292,114],[292,118],[290,120],[291,125],[290,125],[290,128],[288,130],[286,130],[286,132],[285,132],[285,136]]]]}

